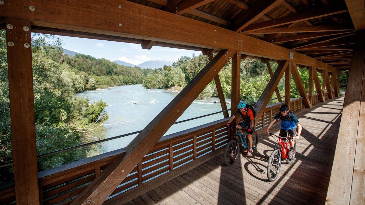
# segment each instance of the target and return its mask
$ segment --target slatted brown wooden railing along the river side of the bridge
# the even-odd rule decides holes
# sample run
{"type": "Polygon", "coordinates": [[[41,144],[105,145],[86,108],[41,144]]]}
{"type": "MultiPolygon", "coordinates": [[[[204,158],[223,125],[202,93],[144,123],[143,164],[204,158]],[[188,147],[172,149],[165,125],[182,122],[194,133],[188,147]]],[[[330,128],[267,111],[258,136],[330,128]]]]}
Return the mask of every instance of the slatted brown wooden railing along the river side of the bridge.
{"type": "MultiPolygon", "coordinates": [[[[313,95],[313,104],[319,102],[318,96],[319,94],[313,95]]],[[[328,92],[326,96],[328,99],[328,92]]],[[[285,103],[279,102],[267,106],[256,123],[255,129],[259,132],[262,131],[261,129],[267,126],[278,113],[280,105],[285,103]]],[[[302,109],[304,109],[302,97],[291,100],[292,112],[295,113],[302,109]]],[[[162,137],[111,194],[108,201],[134,187],[143,186],[146,182],[154,182],[154,180],[169,175],[176,169],[184,169],[189,166],[189,163],[193,163],[208,153],[222,151],[229,136],[226,128],[228,119],[217,120],[162,137]]],[[[69,204],[107,165],[124,154],[125,150],[122,148],[39,172],[41,203],[44,205],[69,204]]],[[[160,183],[162,182],[160,181],[160,183]]],[[[14,183],[5,188],[4,185],[2,186],[0,203],[14,202],[14,183]]]]}

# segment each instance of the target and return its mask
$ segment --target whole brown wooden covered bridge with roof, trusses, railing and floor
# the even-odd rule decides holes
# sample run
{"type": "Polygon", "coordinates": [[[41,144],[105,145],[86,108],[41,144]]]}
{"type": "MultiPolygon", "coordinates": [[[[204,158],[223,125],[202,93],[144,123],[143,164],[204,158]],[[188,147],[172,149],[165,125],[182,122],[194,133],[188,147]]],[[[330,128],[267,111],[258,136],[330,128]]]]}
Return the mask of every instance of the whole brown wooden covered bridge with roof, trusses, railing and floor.
{"type": "Polygon", "coordinates": [[[1,185],[0,203],[365,203],[364,1],[0,0],[0,12],[15,173],[15,185],[1,185]],[[210,62],[126,148],[38,172],[31,32],[199,50],[210,62]],[[283,165],[276,182],[265,179],[273,140],[263,134],[253,157],[241,155],[234,166],[223,166],[228,112],[222,120],[163,136],[213,79],[226,109],[218,72],[228,61],[237,107],[245,58],[266,62],[272,73],[255,105],[257,131],[281,104],[304,127],[295,163],[283,165]],[[269,62],[278,63],[274,72],[269,62]],[[309,70],[308,93],[298,68],[309,70]],[[344,98],[342,70],[350,71],[344,98]],[[284,74],[285,100],[268,106],[284,74]],[[291,76],[300,98],[290,98],[291,76]]]}

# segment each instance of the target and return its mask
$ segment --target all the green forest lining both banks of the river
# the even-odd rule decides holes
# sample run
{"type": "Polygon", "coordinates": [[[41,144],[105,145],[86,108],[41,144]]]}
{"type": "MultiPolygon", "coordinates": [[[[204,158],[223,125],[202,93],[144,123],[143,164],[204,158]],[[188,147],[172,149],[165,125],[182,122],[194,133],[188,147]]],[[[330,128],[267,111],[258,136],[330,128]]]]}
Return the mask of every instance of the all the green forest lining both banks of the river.
{"type": "MultiPolygon", "coordinates": [[[[0,31],[0,165],[12,162],[12,139],[9,109],[9,86],[7,70],[7,46],[5,30],[0,31]]],[[[34,34],[32,38],[33,86],[37,154],[59,150],[78,144],[105,138],[103,123],[108,119],[102,100],[89,102],[76,93],[84,90],[108,88],[118,85],[142,84],[147,89],[182,89],[208,63],[205,55],[181,57],[172,66],[159,69],[141,69],[117,65],[106,59],[89,55],[64,55],[62,42],[52,35],[34,34]]],[[[270,63],[273,71],[277,64],[270,63]]],[[[308,91],[309,73],[299,69],[308,91]]],[[[348,72],[341,75],[341,87],[346,87],[348,72]]],[[[284,75],[285,76],[285,75],[284,75]]],[[[284,96],[284,79],[278,89],[284,96]]],[[[322,82],[322,77],[318,75],[322,82]]],[[[231,97],[231,62],[219,72],[223,93],[231,97]]],[[[253,103],[261,96],[270,80],[265,63],[258,60],[241,61],[241,100],[253,103]]],[[[291,82],[292,98],[299,97],[295,82],[291,82]]],[[[272,98],[276,98],[273,94],[272,98]]],[[[199,98],[217,96],[212,81],[199,98]]],[[[272,100],[270,103],[275,103],[272,100]]],[[[39,170],[57,167],[78,159],[96,155],[100,145],[92,145],[38,158],[39,170]]],[[[0,182],[13,178],[12,166],[0,168],[0,182]]]]}

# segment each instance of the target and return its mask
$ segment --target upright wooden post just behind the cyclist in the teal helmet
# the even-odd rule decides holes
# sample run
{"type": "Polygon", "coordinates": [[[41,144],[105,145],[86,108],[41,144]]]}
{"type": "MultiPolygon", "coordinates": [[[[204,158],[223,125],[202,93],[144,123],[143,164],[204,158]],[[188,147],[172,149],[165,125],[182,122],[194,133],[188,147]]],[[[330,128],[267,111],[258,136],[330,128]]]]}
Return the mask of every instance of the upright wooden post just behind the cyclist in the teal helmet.
{"type": "MultiPolygon", "coordinates": [[[[236,112],[237,106],[241,98],[241,55],[236,53],[232,57],[232,91],[231,91],[231,116],[236,112]]],[[[237,116],[232,124],[238,124],[239,117],[237,116]]]]}

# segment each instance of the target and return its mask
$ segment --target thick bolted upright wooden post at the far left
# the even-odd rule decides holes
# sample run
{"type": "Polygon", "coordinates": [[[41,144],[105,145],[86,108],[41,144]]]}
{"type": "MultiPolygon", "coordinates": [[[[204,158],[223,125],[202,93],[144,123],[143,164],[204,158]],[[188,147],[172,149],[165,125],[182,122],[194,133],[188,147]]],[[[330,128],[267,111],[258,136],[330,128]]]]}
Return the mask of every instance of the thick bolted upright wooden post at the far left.
{"type": "Polygon", "coordinates": [[[30,22],[6,19],[17,204],[39,204],[30,22]]]}

